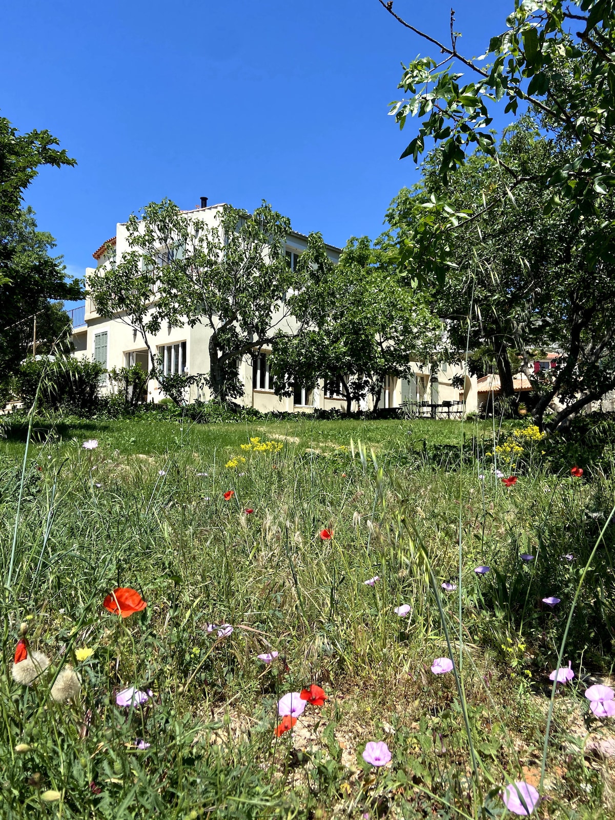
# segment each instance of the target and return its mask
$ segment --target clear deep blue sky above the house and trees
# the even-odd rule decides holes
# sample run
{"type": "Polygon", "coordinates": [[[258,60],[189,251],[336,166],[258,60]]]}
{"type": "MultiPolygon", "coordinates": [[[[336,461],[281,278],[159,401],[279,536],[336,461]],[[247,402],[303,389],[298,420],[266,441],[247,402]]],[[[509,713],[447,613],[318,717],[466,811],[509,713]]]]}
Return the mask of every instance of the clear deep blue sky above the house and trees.
{"type": "MultiPolygon", "coordinates": [[[[456,2],[462,50],[484,52],[511,7],[456,2]]],[[[394,9],[448,38],[450,0],[394,9]]],[[[435,48],[377,0],[20,0],[2,16],[0,113],[47,128],[78,162],[43,169],[27,193],[75,276],[152,200],[265,198],[296,230],[342,245],[376,236],[417,180],[398,159],[413,123],[400,133],[387,103],[400,62],[435,48]]]]}

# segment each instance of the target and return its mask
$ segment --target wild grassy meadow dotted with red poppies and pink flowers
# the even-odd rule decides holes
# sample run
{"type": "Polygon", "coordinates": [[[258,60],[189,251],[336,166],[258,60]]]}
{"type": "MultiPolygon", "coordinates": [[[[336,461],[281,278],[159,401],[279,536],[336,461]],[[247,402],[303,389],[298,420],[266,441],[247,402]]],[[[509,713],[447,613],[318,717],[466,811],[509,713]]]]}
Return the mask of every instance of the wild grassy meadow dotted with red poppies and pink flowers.
{"type": "Polygon", "coordinates": [[[2,818],[615,816],[586,437],[5,426],[2,818]]]}

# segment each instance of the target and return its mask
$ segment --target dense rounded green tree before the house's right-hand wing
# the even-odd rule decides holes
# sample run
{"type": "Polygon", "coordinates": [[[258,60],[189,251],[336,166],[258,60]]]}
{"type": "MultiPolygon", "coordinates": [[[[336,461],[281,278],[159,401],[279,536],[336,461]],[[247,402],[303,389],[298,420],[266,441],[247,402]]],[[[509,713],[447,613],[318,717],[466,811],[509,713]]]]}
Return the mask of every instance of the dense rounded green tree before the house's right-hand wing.
{"type": "Polygon", "coordinates": [[[298,329],[280,331],[273,348],[276,393],[324,379],[341,385],[347,412],[368,394],[377,408],[387,376],[408,377],[412,360],[430,360],[440,322],[389,260],[387,248],[362,237],[350,239],[335,264],[321,236],[310,237],[298,263],[301,288],[289,298],[298,329]]]}

